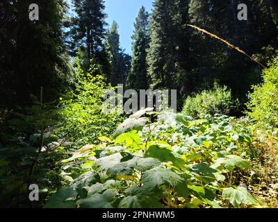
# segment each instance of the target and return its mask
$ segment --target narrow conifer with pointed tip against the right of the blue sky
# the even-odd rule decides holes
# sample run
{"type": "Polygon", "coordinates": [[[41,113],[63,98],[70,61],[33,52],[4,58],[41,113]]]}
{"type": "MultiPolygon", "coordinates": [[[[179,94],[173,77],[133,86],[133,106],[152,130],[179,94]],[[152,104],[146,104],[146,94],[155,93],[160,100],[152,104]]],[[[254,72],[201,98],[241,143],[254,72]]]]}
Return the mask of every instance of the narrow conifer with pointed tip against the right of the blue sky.
{"type": "Polygon", "coordinates": [[[149,48],[149,13],[142,6],[136,17],[133,31],[133,56],[131,71],[126,80],[126,88],[147,89],[147,49],[149,48]]]}

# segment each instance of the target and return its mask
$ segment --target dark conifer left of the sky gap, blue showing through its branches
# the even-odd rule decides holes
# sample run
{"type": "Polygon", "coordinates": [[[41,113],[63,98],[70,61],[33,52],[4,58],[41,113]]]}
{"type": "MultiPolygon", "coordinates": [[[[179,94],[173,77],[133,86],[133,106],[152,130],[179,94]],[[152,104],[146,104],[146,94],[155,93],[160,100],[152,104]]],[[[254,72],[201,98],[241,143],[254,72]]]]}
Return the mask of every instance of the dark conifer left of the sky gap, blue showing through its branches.
{"type": "Polygon", "coordinates": [[[104,48],[106,14],[103,0],[73,0],[76,17],[72,18],[70,29],[70,49],[72,56],[76,56],[78,48],[85,53],[87,65],[94,60],[100,67],[101,72],[108,74],[110,67],[107,52],[104,48]]]}

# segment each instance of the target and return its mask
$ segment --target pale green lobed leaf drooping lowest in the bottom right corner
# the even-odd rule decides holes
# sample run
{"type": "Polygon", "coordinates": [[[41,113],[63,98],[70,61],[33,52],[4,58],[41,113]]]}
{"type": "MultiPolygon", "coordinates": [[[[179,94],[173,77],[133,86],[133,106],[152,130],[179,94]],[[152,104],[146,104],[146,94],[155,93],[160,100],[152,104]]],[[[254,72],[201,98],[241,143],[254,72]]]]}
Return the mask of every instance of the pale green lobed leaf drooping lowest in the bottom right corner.
{"type": "Polygon", "coordinates": [[[257,205],[258,201],[245,187],[228,187],[224,188],[222,198],[229,200],[234,207],[239,207],[240,204],[257,205]]]}

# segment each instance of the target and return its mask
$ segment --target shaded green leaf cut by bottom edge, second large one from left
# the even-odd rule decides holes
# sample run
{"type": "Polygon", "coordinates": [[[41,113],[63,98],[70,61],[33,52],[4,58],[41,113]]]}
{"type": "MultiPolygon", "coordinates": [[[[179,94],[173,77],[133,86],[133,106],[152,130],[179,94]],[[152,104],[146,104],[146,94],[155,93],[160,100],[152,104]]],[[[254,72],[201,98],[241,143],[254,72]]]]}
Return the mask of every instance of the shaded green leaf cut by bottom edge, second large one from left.
{"type": "Polygon", "coordinates": [[[113,208],[117,199],[117,189],[107,189],[103,194],[93,194],[88,198],[78,200],[81,208],[113,208]]]}

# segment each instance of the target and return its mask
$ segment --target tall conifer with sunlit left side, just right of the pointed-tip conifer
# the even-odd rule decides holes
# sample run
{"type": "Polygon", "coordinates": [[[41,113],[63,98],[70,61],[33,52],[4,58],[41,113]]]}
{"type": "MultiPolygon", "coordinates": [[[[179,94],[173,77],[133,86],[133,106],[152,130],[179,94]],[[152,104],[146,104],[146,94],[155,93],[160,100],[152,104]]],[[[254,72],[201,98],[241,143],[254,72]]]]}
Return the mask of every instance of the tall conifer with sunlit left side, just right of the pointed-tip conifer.
{"type": "Polygon", "coordinates": [[[147,54],[148,74],[152,88],[173,87],[174,30],[172,0],[156,0],[150,21],[150,43],[147,54]],[[167,9],[167,10],[166,10],[167,9]]]}

